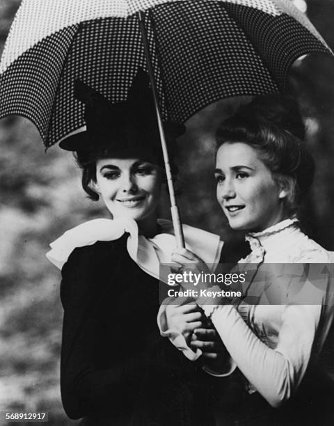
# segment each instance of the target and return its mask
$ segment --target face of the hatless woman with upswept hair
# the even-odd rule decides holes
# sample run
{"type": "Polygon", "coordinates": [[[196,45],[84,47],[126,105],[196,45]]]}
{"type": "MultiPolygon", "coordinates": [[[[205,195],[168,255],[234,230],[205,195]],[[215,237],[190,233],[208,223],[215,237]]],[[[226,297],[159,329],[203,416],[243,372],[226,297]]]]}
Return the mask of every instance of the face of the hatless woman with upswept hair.
{"type": "Polygon", "coordinates": [[[286,191],[246,143],[224,143],[218,149],[215,178],[217,200],[230,227],[258,232],[284,219],[286,191]]]}

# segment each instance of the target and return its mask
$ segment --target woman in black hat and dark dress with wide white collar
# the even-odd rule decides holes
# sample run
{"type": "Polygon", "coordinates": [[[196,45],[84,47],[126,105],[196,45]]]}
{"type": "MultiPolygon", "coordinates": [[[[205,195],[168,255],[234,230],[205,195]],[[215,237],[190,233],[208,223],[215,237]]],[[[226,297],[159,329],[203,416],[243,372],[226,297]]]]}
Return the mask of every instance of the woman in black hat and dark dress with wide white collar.
{"type": "MultiPolygon", "coordinates": [[[[65,411],[84,425],[211,425],[201,365],[157,327],[159,262],[170,262],[175,237],[157,220],[164,171],[147,76],[139,72],[118,104],[82,84],[77,97],[85,102],[87,129],[61,148],[77,152],[84,189],[102,198],[112,219],[65,232],[48,254],[62,267],[65,411]]],[[[169,136],[180,134],[175,125],[166,128],[169,136]]],[[[216,235],[184,232],[194,251],[215,261],[216,235]]],[[[192,319],[200,326],[200,313],[192,319]]]]}

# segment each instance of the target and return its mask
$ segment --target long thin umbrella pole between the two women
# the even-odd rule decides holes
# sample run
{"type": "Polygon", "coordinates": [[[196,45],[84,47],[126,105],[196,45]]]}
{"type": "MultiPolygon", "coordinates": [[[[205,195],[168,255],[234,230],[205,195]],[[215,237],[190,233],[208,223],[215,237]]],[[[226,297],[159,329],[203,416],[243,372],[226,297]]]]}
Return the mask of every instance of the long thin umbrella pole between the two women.
{"type": "Polygon", "coordinates": [[[159,127],[159,135],[160,135],[160,141],[161,141],[161,148],[162,153],[164,155],[164,163],[165,163],[165,169],[166,169],[166,177],[167,177],[167,185],[168,185],[168,192],[169,192],[169,198],[170,198],[170,214],[172,215],[172,221],[173,221],[173,227],[175,232],[175,238],[177,242],[178,248],[184,248],[184,235],[183,235],[183,229],[182,229],[182,223],[180,219],[180,212],[176,204],[175,199],[175,191],[174,191],[174,185],[173,185],[173,176],[170,171],[170,162],[169,162],[169,155],[168,155],[168,149],[166,144],[166,136],[164,132],[164,125],[162,123],[161,119],[161,112],[159,107],[159,99],[157,95],[157,86],[155,84],[154,80],[154,74],[153,74],[153,68],[152,68],[152,61],[150,56],[150,49],[148,47],[148,37],[146,34],[144,19],[143,19],[143,13],[139,11],[137,13],[138,20],[139,20],[139,26],[141,28],[141,35],[143,38],[143,45],[145,50],[145,56],[146,61],[148,65],[148,74],[150,76],[150,83],[154,98],[154,107],[155,112],[157,113],[157,121],[158,121],[158,127],[159,127]]]}

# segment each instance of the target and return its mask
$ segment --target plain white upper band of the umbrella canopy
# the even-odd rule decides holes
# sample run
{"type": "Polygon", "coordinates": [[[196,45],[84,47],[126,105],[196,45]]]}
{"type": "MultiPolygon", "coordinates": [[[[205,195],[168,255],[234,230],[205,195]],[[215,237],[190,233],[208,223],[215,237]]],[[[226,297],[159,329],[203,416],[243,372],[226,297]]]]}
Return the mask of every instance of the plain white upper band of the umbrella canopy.
{"type": "MultiPolygon", "coordinates": [[[[182,0],[169,0],[174,3],[180,1],[182,0]]],[[[220,1],[225,3],[226,0],[220,1]]],[[[272,15],[279,14],[279,9],[271,0],[230,1],[258,8],[272,15]]],[[[10,28],[0,74],[35,43],[66,26],[89,19],[127,17],[138,10],[147,10],[162,3],[166,3],[166,0],[23,0],[10,28]]]]}

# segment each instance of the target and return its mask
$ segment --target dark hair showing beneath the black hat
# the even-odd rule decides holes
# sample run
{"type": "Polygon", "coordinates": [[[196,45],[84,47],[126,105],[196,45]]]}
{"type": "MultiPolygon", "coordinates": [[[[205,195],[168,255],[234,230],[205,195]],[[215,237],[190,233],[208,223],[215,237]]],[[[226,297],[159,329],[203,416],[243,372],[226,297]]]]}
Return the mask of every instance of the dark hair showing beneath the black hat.
{"type": "MultiPolygon", "coordinates": [[[[90,200],[93,200],[93,201],[99,200],[99,194],[97,194],[97,192],[95,192],[93,189],[90,188],[90,182],[96,182],[97,161],[99,159],[113,158],[113,157],[115,157],[115,152],[113,151],[112,148],[111,149],[104,148],[104,149],[96,150],[96,151],[74,152],[74,158],[76,159],[78,166],[82,170],[81,184],[86,194],[88,194],[88,198],[90,198],[90,200]]],[[[161,167],[160,163],[161,161],[159,161],[159,164],[157,164],[157,166],[161,168],[161,171],[164,175],[165,171],[164,171],[164,168],[161,167]]],[[[178,169],[173,161],[170,161],[170,168],[172,171],[173,178],[176,180],[178,169]]]]}

